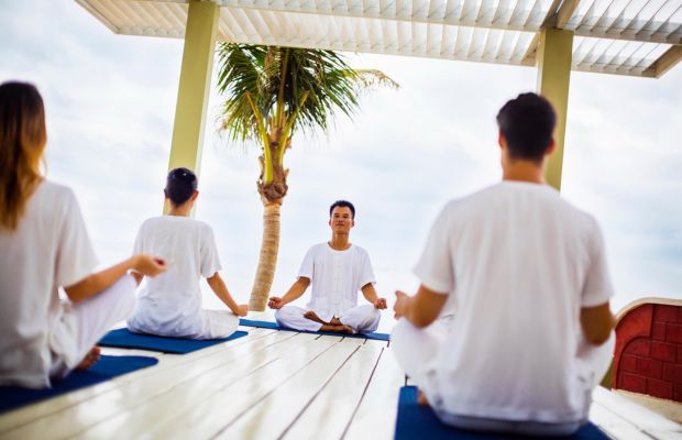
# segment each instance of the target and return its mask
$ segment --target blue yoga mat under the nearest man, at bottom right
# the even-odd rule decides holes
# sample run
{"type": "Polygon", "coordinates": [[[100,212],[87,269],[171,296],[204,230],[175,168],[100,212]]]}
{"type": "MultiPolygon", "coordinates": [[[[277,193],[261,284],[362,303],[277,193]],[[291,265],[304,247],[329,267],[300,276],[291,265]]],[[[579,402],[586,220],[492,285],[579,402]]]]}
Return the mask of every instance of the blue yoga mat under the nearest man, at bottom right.
{"type": "MultiPolygon", "coordinates": [[[[396,440],[538,440],[538,437],[483,433],[449,427],[440,422],[431,408],[417,403],[417,393],[416,386],[404,386],[400,388],[400,398],[398,400],[398,419],[396,420],[396,440]]],[[[600,428],[594,426],[594,424],[587,422],[573,436],[560,437],[560,439],[609,440],[609,437],[606,436],[600,428]]]]}

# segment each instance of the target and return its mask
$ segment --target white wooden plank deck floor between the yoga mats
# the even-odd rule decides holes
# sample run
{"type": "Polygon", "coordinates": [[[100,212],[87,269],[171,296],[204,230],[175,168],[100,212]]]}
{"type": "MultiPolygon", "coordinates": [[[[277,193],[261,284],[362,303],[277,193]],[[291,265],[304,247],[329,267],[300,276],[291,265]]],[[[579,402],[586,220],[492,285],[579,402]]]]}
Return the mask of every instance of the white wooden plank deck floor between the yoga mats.
{"type": "MultiPolygon", "coordinates": [[[[250,318],[257,319],[257,316],[250,318]]],[[[0,416],[0,439],[392,439],[405,384],[386,342],[245,328],[249,336],[0,416]]],[[[682,439],[615,393],[591,419],[614,439],[682,439]]]]}

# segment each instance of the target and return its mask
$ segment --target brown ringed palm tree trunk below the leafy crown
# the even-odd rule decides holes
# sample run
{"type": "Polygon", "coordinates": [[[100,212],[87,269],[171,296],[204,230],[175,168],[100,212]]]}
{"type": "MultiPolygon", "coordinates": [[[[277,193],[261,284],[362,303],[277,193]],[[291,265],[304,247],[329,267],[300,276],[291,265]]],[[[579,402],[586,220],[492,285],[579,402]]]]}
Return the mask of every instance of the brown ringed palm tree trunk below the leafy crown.
{"type": "Polygon", "coordinates": [[[275,268],[277,267],[277,251],[279,249],[279,207],[280,202],[265,202],[263,212],[263,242],[261,256],[256,270],[249,309],[265,310],[270,289],[273,286],[275,268]]]}

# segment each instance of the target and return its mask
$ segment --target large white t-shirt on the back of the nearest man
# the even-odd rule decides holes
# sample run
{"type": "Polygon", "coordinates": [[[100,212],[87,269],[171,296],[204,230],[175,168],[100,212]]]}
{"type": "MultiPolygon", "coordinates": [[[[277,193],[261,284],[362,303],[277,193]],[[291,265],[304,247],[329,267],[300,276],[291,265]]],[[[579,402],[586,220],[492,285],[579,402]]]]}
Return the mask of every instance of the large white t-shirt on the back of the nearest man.
{"type": "Polygon", "coordinates": [[[415,273],[455,297],[444,349],[427,366],[441,409],[506,420],[582,418],[580,310],[613,295],[591,216],[549,186],[503,182],[446,206],[415,273]]]}

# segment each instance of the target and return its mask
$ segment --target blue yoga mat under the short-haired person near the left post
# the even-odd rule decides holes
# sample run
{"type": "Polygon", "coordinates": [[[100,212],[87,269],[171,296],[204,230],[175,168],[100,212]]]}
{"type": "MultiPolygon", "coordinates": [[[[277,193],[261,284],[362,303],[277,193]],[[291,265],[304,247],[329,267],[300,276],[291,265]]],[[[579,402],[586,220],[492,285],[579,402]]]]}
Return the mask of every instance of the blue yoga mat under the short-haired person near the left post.
{"type": "Polygon", "coordinates": [[[97,343],[101,346],[116,346],[120,349],[142,349],[161,351],[163,353],[186,354],[193,351],[206,349],[207,346],[231,341],[237,338],[245,337],[245,331],[235,331],[229,338],[223,339],[182,339],[155,337],[153,334],[138,334],[128,329],[111,330],[97,343]]]}

